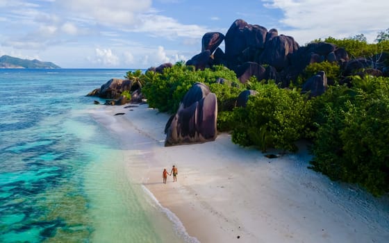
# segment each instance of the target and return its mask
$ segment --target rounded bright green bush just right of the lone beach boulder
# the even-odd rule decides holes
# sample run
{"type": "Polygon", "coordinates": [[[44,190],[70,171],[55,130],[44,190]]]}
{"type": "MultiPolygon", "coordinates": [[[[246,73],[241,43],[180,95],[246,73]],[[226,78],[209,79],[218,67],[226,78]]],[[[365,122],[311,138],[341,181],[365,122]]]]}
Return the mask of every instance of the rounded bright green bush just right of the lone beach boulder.
{"type": "Polygon", "coordinates": [[[246,108],[233,110],[232,141],[242,146],[297,151],[295,142],[308,134],[311,103],[297,90],[274,83],[256,86],[246,108]]]}

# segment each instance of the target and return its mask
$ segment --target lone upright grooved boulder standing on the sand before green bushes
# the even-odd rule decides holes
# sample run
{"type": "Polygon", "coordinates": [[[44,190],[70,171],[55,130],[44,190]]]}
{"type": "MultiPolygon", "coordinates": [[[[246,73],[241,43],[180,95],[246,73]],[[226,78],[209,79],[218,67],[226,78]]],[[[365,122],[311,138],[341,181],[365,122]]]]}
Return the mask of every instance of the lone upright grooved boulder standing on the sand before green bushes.
{"type": "Polygon", "coordinates": [[[165,126],[165,146],[213,141],[216,138],[217,98],[209,87],[195,83],[165,126]]]}

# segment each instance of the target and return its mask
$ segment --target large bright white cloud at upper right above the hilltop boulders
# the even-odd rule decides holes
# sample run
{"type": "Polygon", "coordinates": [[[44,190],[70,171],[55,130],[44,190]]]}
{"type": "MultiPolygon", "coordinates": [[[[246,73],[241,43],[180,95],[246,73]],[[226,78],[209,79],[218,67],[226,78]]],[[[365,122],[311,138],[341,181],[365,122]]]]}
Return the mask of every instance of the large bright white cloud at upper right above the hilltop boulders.
{"type": "Polygon", "coordinates": [[[319,37],[351,37],[363,33],[372,42],[389,26],[387,0],[268,0],[264,6],[283,12],[279,33],[305,42],[319,37]],[[282,29],[283,28],[283,29],[282,29]]]}

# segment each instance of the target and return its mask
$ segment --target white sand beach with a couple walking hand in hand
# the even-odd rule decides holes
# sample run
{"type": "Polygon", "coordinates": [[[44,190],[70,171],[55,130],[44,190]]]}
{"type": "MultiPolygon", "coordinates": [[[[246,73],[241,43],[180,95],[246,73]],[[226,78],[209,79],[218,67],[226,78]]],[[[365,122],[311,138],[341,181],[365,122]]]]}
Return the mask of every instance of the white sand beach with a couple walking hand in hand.
{"type": "Polygon", "coordinates": [[[388,196],[376,199],[307,169],[306,144],[273,159],[226,133],[165,147],[169,116],[137,106],[98,106],[91,114],[122,141],[129,176],[200,242],[388,242],[388,196]],[[163,184],[172,165],[177,182],[168,176],[163,184]]]}

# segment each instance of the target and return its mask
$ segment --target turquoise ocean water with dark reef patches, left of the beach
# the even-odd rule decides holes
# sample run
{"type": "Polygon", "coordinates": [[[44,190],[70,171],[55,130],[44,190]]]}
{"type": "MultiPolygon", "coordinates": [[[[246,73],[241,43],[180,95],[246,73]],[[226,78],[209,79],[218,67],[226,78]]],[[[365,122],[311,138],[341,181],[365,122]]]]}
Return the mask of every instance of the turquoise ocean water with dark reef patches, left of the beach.
{"type": "Polygon", "coordinates": [[[191,241],[85,112],[127,71],[0,69],[0,242],[191,241]]]}

